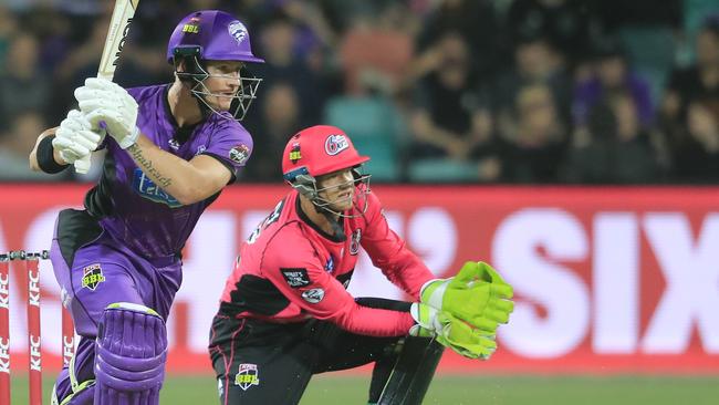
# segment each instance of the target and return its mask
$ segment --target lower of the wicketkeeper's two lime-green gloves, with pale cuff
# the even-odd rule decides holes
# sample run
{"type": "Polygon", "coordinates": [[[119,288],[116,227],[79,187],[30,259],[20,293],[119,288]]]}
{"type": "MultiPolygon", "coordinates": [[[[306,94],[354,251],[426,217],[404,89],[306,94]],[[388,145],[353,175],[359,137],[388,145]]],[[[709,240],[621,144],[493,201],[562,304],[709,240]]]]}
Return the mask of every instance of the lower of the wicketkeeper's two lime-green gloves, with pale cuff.
{"type": "Polygon", "coordinates": [[[409,330],[414,336],[435,336],[441,345],[469,359],[488,360],[497,350],[493,334],[473,329],[446,312],[415,302],[410,313],[417,322],[409,330]]]}

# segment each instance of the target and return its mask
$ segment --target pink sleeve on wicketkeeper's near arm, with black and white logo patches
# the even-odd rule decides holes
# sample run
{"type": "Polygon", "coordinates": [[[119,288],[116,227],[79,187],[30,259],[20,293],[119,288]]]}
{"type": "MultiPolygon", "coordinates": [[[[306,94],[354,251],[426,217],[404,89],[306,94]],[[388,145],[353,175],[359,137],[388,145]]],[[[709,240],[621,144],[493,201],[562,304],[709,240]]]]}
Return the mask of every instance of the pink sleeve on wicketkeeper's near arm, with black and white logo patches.
{"type": "Polygon", "coordinates": [[[262,276],[304,312],[348,332],[371,336],[404,335],[415,324],[408,312],[357,304],[342,283],[324,270],[299,228],[282,233],[268,243],[262,276]],[[291,231],[296,235],[288,235],[291,231]]]}

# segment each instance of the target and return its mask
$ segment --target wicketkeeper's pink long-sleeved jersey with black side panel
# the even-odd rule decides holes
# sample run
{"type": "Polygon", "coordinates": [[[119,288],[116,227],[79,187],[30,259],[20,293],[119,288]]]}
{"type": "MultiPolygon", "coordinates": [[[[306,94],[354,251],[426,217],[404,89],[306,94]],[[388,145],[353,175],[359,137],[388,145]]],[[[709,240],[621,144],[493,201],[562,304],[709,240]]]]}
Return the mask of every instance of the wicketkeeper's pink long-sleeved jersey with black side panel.
{"type": "MultiPolygon", "coordinates": [[[[358,305],[345,290],[361,247],[413,300],[434,278],[389,229],[377,197],[368,194],[367,198],[364,215],[344,219],[346,238],[341,240],[312,225],[299,209],[298,193],[290,193],[242,243],[220,311],[270,322],[316,318],[373,336],[406,334],[414,324],[408,312],[358,305]]],[[[353,211],[361,212],[357,207],[353,211]]]]}

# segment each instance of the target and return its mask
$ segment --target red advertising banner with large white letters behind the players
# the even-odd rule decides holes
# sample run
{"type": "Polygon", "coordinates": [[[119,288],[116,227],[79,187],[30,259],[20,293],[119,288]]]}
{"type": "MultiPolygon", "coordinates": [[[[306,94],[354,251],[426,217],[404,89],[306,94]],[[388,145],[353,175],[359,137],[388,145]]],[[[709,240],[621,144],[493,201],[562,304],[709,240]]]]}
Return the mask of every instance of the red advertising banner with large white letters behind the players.
{"type": "MultiPolygon", "coordinates": [[[[87,186],[0,185],[0,252],[48,249],[56,211],[87,186]]],[[[168,320],[169,372],[209,372],[210,320],[237,247],[288,191],[240,185],[204,215],[168,320]]],[[[377,186],[390,226],[438,276],[492,263],[517,307],[488,362],[442,372],[719,374],[719,188],[377,186]]],[[[43,354],[62,351],[59,290],[40,264],[43,354]]],[[[27,277],[27,276],[24,276],[27,277]]],[[[27,279],[10,277],[10,351],[24,364],[27,279]]],[[[361,259],[356,297],[404,294],[361,259]]],[[[45,366],[60,364],[52,360],[45,366]]]]}

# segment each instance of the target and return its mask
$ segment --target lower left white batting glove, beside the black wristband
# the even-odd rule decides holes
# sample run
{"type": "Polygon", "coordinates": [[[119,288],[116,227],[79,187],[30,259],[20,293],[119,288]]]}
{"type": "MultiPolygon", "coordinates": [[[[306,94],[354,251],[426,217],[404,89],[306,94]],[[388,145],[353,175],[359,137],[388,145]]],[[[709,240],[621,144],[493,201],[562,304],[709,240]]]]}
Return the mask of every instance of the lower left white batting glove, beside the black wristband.
{"type": "Polygon", "coordinates": [[[67,113],[67,117],[60,123],[52,139],[52,147],[60,157],[69,164],[90,156],[97,148],[104,137],[103,133],[92,131],[92,124],[77,110],[67,113]]]}

